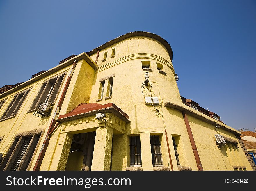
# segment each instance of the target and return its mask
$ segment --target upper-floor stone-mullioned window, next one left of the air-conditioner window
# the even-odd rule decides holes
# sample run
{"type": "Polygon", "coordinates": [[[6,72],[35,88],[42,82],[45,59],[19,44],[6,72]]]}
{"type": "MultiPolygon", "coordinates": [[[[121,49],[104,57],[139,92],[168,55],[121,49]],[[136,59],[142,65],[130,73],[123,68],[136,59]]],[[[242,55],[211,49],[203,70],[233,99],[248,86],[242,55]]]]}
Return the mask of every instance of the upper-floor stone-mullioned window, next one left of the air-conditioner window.
{"type": "Polygon", "coordinates": [[[19,108],[22,106],[22,103],[24,102],[27,95],[29,94],[29,90],[20,92],[13,97],[13,100],[11,101],[8,108],[3,113],[1,119],[6,119],[8,117],[15,116],[18,113],[19,108]]]}

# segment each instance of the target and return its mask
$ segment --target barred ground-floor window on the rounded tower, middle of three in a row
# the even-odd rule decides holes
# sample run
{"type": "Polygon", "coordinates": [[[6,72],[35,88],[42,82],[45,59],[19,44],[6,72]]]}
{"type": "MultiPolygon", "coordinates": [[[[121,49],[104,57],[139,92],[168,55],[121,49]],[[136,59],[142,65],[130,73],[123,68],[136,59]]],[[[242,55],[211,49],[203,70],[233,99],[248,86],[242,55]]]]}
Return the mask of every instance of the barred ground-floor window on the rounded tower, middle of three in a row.
{"type": "Polygon", "coordinates": [[[157,136],[157,135],[150,136],[150,144],[151,144],[153,166],[163,165],[161,144],[160,144],[159,136],[157,136]]]}

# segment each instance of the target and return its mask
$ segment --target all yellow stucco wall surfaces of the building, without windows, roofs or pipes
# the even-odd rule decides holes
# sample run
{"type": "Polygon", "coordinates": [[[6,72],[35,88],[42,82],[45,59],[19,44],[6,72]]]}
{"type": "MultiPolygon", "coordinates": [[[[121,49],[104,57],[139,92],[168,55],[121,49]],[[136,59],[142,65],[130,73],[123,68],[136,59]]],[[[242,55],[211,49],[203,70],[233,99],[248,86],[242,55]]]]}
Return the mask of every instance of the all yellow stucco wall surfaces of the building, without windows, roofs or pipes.
{"type": "MultiPolygon", "coordinates": [[[[90,57],[95,61],[96,53],[90,57]]],[[[192,170],[198,170],[181,111],[163,106],[163,103],[167,101],[184,105],[180,98],[174,77],[173,65],[166,48],[153,38],[143,36],[131,37],[101,50],[97,64],[99,67],[95,71],[85,60],[78,60],[60,115],[70,112],[80,103],[96,102],[100,88],[99,80],[114,75],[112,98],[105,100],[105,97],[107,97],[105,85],[103,99],[97,103],[114,103],[129,115],[131,122],[125,124],[125,131],[118,124],[112,127],[109,124],[107,128],[103,128],[103,124],[95,120],[95,116],[87,117],[88,119],[84,119],[85,121],[78,125],[76,125],[77,122],[72,122],[72,124],[70,122],[70,125],[63,122],[51,137],[40,169],[65,170],[70,149],[69,141],[72,141],[73,134],[96,131],[95,149],[97,150],[94,151],[92,170],[109,170],[111,156],[109,152],[111,152],[112,143],[112,137],[110,138],[109,136],[112,135],[112,128],[114,134],[112,170],[125,170],[126,167],[129,167],[130,135],[140,135],[141,137],[143,170],[153,170],[150,135],[160,135],[163,165],[169,165],[170,167],[164,130],[166,128],[174,170],[178,170],[178,167],[172,136],[179,137],[177,144],[181,165],[191,167],[192,170]],[[115,56],[111,58],[113,48],[115,48],[115,56]],[[105,52],[107,52],[107,58],[103,62],[105,52]],[[141,84],[145,81],[144,75],[146,72],[142,70],[142,61],[150,61],[152,72],[149,72],[148,76],[152,82],[153,96],[159,97],[160,106],[158,108],[161,117],[156,116],[153,106],[145,105],[145,95],[142,93],[141,84]],[[157,63],[163,65],[162,70],[167,73],[166,75],[160,74],[157,71],[157,63]],[[100,135],[102,136],[101,140],[99,138],[100,135]]],[[[0,144],[0,152],[8,150],[11,140],[18,132],[36,128],[46,128],[47,131],[54,112],[51,113],[50,117],[42,119],[33,116],[33,113],[26,112],[30,107],[30,103],[35,99],[42,82],[65,71],[69,73],[70,67],[71,65],[24,88],[25,90],[31,87],[31,91],[18,115],[13,119],[0,122],[0,136],[5,135],[0,144]]],[[[64,80],[64,85],[66,80],[67,76],[64,80]]],[[[61,92],[64,85],[61,88],[61,92]]],[[[0,115],[4,112],[8,103],[10,103],[11,96],[14,96],[15,93],[0,99],[1,101],[8,97],[0,110],[0,115]]],[[[58,96],[57,103],[60,95],[58,96]]],[[[55,108],[56,105],[53,111],[55,108]]],[[[108,119],[111,120],[111,118],[108,119]]],[[[219,133],[236,139],[233,133],[223,129],[219,129],[219,132],[217,132],[213,125],[189,115],[188,119],[204,170],[233,170],[232,165],[246,166],[247,170],[252,169],[240,145],[238,149],[234,149],[230,145],[223,146],[220,149],[216,146],[214,134],[219,133]]],[[[45,136],[42,140],[44,139],[45,136]]],[[[42,142],[39,148],[41,147],[42,142]]],[[[39,151],[40,149],[38,149],[35,159],[39,151]]],[[[31,170],[34,165],[35,160],[31,170]]],[[[67,169],[70,169],[70,167],[67,167],[67,169]]]]}

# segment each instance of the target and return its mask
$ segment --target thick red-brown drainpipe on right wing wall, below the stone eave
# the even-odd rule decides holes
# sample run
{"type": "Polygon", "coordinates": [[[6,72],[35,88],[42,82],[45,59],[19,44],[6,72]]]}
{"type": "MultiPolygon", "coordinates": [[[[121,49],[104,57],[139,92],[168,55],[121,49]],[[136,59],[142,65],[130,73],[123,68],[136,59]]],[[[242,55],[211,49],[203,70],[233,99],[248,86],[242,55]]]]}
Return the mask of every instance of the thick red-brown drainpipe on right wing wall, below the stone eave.
{"type": "Polygon", "coordinates": [[[200,160],[200,157],[199,157],[196,145],[195,145],[195,140],[194,140],[194,137],[193,137],[190,125],[189,125],[189,120],[188,120],[188,117],[187,117],[185,111],[182,111],[182,115],[183,115],[183,118],[184,118],[184,121],[185,121],[185,124],[186,124],[186,128],[187,128],[187,131],[188,131],[188,134],[189,134],[189,140],[191,142],[191,146],[192,146],[192,149],[193,149],[193,152],[194,152],[197,168],[198,168],[198,170],[202,171],[204,169],[203,169],[203,166],[202,166],[202,163],[201,163],[201,160],[200,160]]]}

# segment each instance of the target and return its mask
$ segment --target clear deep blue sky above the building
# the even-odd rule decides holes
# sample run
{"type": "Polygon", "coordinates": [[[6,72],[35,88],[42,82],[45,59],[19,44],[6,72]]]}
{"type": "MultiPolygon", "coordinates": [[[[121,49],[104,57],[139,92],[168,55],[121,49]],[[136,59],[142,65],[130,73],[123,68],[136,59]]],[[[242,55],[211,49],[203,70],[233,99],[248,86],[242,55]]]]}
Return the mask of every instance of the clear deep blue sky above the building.
{"type": "Polygon", "coordinates": [[[255,123],[256,1],[0,1],[0,87],[131,31],[173,49],[183,97],[233,128],[255,123]]]}

